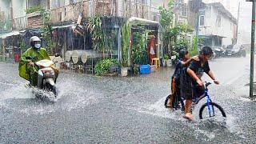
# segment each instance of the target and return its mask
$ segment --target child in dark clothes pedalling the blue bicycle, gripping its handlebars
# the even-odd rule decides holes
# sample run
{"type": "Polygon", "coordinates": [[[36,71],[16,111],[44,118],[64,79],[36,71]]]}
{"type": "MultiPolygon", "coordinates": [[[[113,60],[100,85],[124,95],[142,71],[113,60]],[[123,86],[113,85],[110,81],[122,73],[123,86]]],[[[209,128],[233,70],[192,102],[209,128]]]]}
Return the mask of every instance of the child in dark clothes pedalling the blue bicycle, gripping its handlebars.
{"type": "Polygon", "coordinates": [[[213,54],[213,50],[209,46],[202,47],[200,54],[198,55],[199,61],[192,61],[188,66],[186,72],[190,78],[186,78],[186,81],[183,81],[184,89],[182,89],[182,96],[186,99],[185,104],[185,116],[189,120],[193,120],[193,115],[190,113],[190,106],[192,104],[192,99],[200,97],[204,94],[203,82],[201,80],[202,74],[205,72],[214,80],[215,84],[219,82],[215,79],[213,72],[210,70],[208,60],[213,54]]]}

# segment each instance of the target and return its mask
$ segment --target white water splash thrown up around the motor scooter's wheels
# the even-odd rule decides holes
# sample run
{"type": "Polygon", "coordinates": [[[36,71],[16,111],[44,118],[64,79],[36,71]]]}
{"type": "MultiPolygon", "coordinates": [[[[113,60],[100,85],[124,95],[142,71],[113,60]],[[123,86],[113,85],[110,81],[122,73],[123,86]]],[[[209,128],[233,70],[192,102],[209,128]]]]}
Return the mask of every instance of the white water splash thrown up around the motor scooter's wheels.
{"type": "Polygon", "coordinates": [[[98,94],[95,90],[85,88],[72,78],[57,83],[58,97],[45,90],[30,88],[22,82],[2,82],[6,86],[0,92],[0,106],[22,114],[50,114],[57,110],[75,110],[98,102],[98,94]],[[35,94],[47,98],[35,98],[35,94]]]}

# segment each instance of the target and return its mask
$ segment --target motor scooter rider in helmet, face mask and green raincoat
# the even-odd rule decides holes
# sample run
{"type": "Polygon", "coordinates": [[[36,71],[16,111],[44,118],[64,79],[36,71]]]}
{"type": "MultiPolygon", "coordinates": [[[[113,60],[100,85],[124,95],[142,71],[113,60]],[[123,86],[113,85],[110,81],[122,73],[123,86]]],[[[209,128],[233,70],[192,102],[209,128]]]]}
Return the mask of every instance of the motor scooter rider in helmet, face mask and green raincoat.
{"type": "MultiPolygon", "coordinates": [[[[22,78],[30,81],[30,86],[38,86],[38,66],[35,66],[34,62],[38,62],[42,59],[50,60],[46,49],[41,47],[41,39],[37,36],[30,38],[30,48],[22,54],[21,60],[18,65],[19,75],[22,78]],[[27,59],[30,57],[30,59],[27,59]]],[[[56,78],[58,78],[58,70],[54,68],[56,78]]],[[[55,79],[56,79],[55,78],[55,79]]]]}

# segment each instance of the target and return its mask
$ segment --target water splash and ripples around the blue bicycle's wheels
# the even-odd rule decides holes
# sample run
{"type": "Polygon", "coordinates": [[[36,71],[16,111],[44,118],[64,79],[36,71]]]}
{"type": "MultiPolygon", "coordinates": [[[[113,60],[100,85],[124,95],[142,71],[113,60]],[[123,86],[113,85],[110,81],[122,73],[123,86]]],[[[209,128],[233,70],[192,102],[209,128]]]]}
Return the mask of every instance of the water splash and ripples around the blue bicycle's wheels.
{"type": "Polygon", "coordinates": [[[161,98],[154,104],[144,104],[144,106],[137,106],[136,108],[133,107],[130,109],[137,110],[143,114],[173,119],[175,122],[182,123],[182,126],[190,127],[195,131],[194,135],[196,138],[203,139],[206,142],[216,138],[216,135],[218,135],[222,130],[226,130],[226,133],[237,134],[240,138],[245,138],[242,130],[238,126],[238,123],[236,123],[235,117],[230,114],[227,115],[227,118],[206,118],[200,120],[198,118],[198,111],[203,102],[199,102],[198,105],[194,107],[194,122],[189,122],[185,118],[182,118],[184,115],[182,110],[166,109],[163,105],[165,99],[166,98],[161,98]]]}

